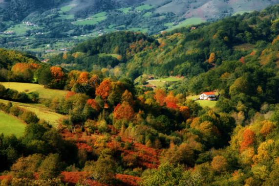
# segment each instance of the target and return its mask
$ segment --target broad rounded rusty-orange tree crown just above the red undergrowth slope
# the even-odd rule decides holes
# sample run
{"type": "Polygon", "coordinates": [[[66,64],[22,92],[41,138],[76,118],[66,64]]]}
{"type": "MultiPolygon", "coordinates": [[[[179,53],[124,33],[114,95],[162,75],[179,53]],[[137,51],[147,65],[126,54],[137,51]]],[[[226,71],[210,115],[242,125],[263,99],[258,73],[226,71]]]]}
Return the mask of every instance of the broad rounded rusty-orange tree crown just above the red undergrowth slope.
{"type": "Polygon", "coordinates": [[[134,109],[126,101],[124,101],[122,104],[118,104],[113,111],[113,117],[116,119],[131,120],[134,115],[134,109]]]}

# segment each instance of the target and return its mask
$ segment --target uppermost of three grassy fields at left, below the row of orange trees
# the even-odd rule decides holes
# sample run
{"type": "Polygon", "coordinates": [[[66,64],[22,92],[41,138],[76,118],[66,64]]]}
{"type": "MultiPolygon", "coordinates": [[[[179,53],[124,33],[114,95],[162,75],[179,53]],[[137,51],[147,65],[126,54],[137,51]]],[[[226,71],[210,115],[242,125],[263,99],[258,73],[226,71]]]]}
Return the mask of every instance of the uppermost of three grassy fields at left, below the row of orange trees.
{"type": "Polygon", "coordinates": [[[40,95],[40,98],[43,99],[50,99],[53,97],[64,97],[68,91],[62,90],[53,90],[53,89],[46,89],[43,85],[33,84],[33,83],[17,83],[17,82],[10,82],[10,86],[8,82],[0,82],[6,88],[14,89],[19,92],[25,93],[32,93],[37,92],[40,95]]]}

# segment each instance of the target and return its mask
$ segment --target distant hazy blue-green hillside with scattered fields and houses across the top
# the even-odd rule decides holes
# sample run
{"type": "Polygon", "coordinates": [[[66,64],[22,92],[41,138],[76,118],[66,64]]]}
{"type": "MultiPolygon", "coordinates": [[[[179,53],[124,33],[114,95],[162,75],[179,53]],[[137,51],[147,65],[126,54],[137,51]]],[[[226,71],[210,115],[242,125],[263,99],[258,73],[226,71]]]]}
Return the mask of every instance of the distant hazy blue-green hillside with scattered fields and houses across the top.
{"type": "Polygon", "coordinates": [[[0,47],[49,58],[118,30],[157,34],[261,10],[279,0],[17,0],[0,2],[0,47]]]}

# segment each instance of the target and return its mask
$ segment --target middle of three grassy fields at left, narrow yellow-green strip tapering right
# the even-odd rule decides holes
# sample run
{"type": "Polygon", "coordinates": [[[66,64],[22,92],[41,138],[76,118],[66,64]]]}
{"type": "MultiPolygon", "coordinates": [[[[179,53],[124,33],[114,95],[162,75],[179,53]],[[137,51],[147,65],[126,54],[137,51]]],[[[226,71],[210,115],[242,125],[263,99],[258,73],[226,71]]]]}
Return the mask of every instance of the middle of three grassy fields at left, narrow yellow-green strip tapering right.
{"type": "MultiPolygon", "coordinates": [[[[0,99],[1,103],[7,104],[9,101],[0,99]]],[[[34,112],[40,119],[47,121],[54,127],[57,127],[61,120],[66,116],[57,114],[45,107],[42,104],[29,104],[11,101],[13,105],[16,105],[24,110],[34,112]]]]}

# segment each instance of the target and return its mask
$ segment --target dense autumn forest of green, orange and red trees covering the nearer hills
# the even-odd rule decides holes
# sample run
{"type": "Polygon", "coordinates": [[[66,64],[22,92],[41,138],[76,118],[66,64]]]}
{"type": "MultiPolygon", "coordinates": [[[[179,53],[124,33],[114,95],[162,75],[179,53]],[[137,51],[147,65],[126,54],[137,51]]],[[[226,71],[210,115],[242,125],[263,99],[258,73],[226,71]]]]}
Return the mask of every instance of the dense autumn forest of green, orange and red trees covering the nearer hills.
{"type": "Polygon", "coordinates": [[[279,185],[279,6],[156,36],[115,32],[49,63],[0,56],[1,82],[65,91],[0,85],[0,113],[26,124],[0,135],[1,185],[279,185]],[[152,89],[134,82],[144,74],[184,78],[152,89]],[[213,108],[189,97],[209,91],[213,108]]]}

